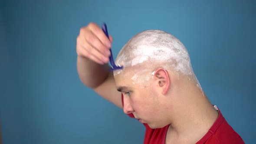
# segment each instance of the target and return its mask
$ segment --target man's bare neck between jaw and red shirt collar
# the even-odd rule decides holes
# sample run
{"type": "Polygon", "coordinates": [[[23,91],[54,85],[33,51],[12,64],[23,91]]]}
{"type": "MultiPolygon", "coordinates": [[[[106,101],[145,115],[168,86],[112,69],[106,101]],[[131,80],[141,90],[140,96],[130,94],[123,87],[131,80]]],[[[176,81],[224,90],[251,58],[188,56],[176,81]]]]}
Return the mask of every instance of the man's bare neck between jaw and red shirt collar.
{"type": "MultiPolygon", "coordinates": [[[[193,140],[202,138],[218,117],[206,95],[192,82],[177,85],[179,95],[175,101],[167,134],[176,140],[193,140]]],[[[168,137],[167,135],[167,137],[168,137]]]]}

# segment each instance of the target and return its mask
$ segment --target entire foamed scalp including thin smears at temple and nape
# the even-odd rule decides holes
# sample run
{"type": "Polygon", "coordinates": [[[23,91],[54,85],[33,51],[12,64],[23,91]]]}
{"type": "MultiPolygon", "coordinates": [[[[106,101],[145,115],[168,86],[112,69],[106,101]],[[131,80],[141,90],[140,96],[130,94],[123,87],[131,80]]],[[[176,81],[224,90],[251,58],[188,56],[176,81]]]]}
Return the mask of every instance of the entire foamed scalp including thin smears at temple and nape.
{"type": "Polygon", "coordinates": [[[147,82],[154,70],[161,67],[193,78],[200,87],[186,47],[175,36],[161,30],[147,30],[133,36],[120,50],[115,63],[123,69],[114,71],[114,76],[133,68],[135,75],[131,79],[136,83],[147,82]],[[149,72],[149,77],[140,75],[143,72],[149,72]]]}

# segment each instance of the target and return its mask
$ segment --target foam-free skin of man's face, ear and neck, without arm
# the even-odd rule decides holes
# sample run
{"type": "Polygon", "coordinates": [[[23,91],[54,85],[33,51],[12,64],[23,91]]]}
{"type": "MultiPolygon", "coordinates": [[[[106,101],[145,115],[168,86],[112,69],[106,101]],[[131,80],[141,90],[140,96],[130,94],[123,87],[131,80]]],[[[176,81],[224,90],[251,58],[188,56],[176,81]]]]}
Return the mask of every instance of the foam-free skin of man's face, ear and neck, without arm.
{"type": "Polygon", "coordinates": [[[124,95],[124,112],[151,128],[170,124],[166,144],[195,144],[216,121],[218,112],[187,77],[157,69],[149,85],[141,88],[130,79],[133,75],[115,76],[124,95]]]}

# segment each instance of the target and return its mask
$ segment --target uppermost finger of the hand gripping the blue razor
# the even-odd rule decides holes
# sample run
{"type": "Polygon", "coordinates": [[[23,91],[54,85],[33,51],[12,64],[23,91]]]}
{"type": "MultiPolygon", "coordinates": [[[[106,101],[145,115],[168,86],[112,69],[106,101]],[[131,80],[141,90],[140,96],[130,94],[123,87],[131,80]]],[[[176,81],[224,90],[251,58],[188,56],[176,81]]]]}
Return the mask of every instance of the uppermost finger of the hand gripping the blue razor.
{"type": "Polygon", "coordinates": [[[107,48],[111,48],[111,42],[108,39],[108,37],[105,35],[103,30],[95,23],[89,24],[90,31],[98,37],[98,39],[102,42],[103,45],[105,45],[107,48]]]}

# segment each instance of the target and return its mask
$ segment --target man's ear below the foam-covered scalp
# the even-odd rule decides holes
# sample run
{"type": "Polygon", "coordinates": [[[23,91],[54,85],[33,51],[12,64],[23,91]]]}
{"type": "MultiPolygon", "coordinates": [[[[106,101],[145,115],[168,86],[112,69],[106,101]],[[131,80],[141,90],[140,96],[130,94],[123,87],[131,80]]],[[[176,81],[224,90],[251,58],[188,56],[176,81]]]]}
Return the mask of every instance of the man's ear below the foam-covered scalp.
{"type": "Polygon", "coordinates": [[[171,85],[170,76],[166,69],[159,68],[154,72],[154,79],[157,82],[157,85],[162,88],[162,94],[165,95],[171,85]]]}

